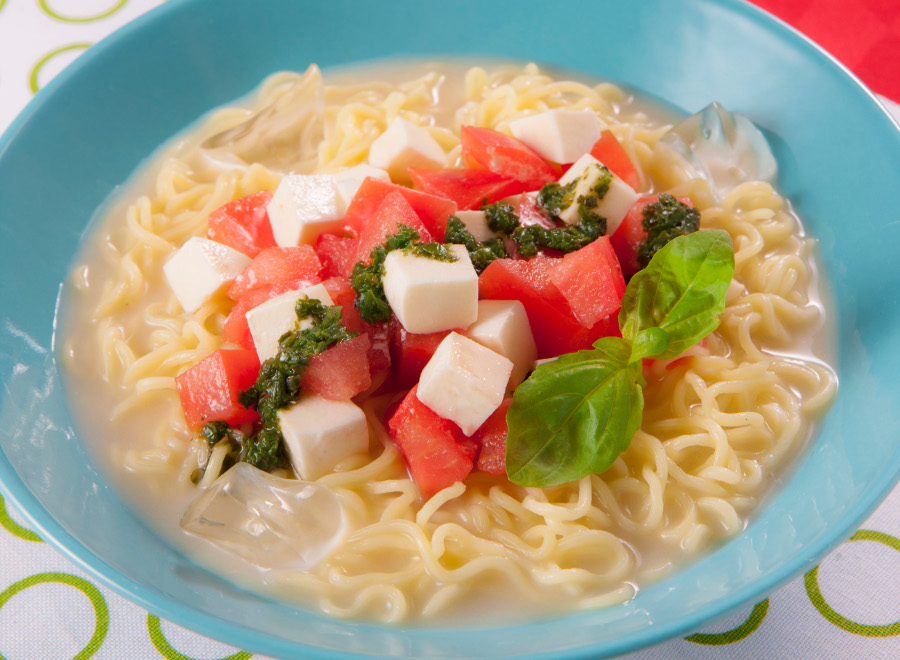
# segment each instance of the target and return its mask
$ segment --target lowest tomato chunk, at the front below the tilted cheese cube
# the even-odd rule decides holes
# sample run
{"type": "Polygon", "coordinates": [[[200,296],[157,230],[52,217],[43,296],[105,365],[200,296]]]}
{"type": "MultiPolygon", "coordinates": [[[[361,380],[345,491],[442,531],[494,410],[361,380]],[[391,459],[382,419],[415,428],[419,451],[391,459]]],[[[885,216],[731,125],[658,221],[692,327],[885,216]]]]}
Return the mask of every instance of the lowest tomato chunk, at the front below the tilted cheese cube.
{"type": "Polygon", "coordinates": [[[416,397],[413,387],[388,420],[394,444],[406,459],[413,479],[426,496],[462,481],[472,471],[471,444],[464,434],[416,397]]]}

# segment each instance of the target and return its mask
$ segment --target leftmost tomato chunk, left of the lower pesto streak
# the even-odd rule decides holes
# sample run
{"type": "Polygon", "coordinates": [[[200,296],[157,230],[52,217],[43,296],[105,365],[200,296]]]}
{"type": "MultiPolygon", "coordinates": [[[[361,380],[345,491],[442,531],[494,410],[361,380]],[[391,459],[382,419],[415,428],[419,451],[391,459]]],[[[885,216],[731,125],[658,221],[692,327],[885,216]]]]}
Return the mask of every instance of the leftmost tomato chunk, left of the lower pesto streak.
{"type": "Polygon", "coordinates": [[[221,348],[176,376],[175,389],[188,428],[196,430],[207,422],[240,426],[256,421],[256,410],[245,408],[238,399],[242,390],[256,382],[258,373],[256,351],[221,348]]]}

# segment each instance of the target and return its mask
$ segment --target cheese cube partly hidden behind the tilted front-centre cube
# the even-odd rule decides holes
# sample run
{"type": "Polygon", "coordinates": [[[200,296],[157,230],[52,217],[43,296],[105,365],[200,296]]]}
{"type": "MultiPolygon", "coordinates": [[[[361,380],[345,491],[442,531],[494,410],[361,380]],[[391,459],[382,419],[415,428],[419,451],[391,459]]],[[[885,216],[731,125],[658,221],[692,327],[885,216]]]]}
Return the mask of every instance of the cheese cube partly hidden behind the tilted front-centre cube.
{"type": "Polygon", "coordinates": [[[509,389],[534,369],[537,346],[525,306],[518,300],[479,300],[478,320],[466,328],[466,336],[512,361],[509,389]]]}

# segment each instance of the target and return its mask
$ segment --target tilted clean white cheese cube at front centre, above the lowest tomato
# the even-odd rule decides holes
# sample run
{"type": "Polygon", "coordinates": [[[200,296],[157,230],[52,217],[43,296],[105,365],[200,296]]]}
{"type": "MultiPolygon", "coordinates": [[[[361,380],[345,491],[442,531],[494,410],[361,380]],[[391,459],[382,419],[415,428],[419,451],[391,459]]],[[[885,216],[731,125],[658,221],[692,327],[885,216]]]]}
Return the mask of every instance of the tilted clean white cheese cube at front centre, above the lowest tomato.
{"type": "Polygon", "coordinates": [[[451,332],[422,370],[416,397],[470,436],[503,402],[512,368],[508,358],[451,332]]]}

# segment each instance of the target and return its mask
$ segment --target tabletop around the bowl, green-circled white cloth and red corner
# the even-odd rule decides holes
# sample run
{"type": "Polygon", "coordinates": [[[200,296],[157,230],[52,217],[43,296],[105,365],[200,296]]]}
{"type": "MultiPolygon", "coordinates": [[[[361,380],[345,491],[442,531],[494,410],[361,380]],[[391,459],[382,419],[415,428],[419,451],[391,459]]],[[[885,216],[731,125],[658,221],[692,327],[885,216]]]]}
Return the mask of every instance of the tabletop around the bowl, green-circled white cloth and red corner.
{"type": "MultiPolygon", "coordinates": [[[[900,0],[755,0],[851,69],[900,119],[900,0]],[[852,10],[848,7],[852,6],[852,10]]],[[[78,55],[161,0],[0,0],[0,132],[78,55]]],[[[262,656],[161,621],[101,585],[0,498],[0,658],[262,656]]],[[[687,639],[627,656],[900,657],[900,487],[819,566],[687,639]]]]}

